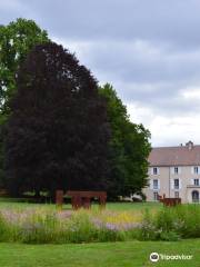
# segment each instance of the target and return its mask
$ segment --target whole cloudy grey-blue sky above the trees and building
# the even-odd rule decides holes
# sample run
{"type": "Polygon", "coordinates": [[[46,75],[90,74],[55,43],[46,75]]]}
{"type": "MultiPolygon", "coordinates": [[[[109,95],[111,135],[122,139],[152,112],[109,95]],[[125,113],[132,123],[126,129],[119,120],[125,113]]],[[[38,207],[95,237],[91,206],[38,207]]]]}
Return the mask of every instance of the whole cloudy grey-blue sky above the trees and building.
{"type": "Polygon", "coordinates": [[[200,145],[200,0],[0,0],[109,82],[151,144],[200,145]]]}

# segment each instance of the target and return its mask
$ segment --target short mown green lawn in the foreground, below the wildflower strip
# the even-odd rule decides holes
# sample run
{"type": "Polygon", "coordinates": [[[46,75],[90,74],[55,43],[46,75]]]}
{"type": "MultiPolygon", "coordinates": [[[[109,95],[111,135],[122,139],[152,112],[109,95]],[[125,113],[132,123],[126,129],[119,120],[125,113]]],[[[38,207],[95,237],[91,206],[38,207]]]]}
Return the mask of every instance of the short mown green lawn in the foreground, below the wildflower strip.
{"type": "Polygon", "coordinates": [[[2,267],[143,267],[200,266],[200,239],[177,243],[127,241],[80,245],[0,244],[2,267]],[[193,255],[191,260],[151,263],[149,255],[193,255]]]}

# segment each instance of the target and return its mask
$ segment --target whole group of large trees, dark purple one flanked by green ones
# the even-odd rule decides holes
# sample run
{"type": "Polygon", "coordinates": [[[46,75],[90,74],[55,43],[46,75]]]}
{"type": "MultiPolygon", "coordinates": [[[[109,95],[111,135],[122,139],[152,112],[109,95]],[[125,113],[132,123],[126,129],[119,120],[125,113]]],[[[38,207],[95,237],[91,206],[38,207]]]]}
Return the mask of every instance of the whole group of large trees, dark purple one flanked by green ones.
{"type": "Polygon", "coordinates": [[[32,20],[0,27],[0,187],[141,194],[150,132],[32,20]]]}

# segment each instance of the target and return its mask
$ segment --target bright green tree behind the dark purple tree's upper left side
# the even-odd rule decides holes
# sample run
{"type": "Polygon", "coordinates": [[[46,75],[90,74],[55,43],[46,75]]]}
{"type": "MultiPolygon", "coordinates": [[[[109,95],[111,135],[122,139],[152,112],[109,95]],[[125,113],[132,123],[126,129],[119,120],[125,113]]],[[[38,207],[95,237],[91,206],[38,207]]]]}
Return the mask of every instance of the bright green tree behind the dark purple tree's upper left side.
{"type": "Polygon", "coordinates": [[[36,44],[47,41],[47,31],[33,20],[17,19],[0,26],[0,123],[10,113],[8,102],[16,92],[19,65],[36,44]]]}

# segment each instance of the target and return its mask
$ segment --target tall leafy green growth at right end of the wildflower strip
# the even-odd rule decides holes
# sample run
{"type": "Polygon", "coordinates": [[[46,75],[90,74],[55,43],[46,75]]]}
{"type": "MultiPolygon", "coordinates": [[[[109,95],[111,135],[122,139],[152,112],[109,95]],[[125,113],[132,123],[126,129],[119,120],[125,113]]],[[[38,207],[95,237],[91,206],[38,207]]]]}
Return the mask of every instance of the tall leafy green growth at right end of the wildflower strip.
{"type": "Polygon", "coordinates": [[[199,205],[163,207],[158,212],[146,212],[140,239],[168,240],[200,237],[199,205]]]}

